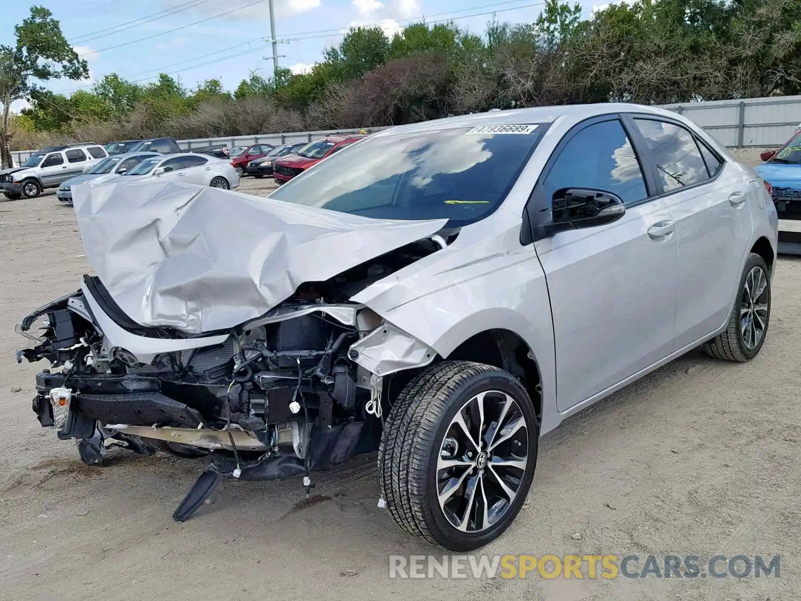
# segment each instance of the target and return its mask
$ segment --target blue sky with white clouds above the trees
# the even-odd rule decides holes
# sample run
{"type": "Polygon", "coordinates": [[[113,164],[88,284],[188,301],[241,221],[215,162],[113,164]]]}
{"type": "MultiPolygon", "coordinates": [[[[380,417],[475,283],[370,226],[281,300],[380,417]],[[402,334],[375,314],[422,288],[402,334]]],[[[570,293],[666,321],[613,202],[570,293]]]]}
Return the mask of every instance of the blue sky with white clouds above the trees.
{"type": "MultiPolygon", "coordinates": [[[[482,32],[493,12],[500,21],[530,22],[541,0],[274,0],[281,67],[304,71],[336,45],[348,26],[378,24],[392,34],[426,19],[453,19],[482,32]]],[[[0,44],[14,42],[14,24],[30,2],[2,2],[0,44]]],[[[53,91],[70,93],[115,72],[146,83],[159,72],[179,77],[187,87],[220,79],[233,88],[251,71],[268,76],[272,63],[268,0],[39,0],[61,21],[78,54],[87,58],[90,79],[53,81],[53,91]]],[[[582,2],[585,13],[596,2],[582,2]]],[[[17,103],[14,108],[22,105],[17,103]]]]}

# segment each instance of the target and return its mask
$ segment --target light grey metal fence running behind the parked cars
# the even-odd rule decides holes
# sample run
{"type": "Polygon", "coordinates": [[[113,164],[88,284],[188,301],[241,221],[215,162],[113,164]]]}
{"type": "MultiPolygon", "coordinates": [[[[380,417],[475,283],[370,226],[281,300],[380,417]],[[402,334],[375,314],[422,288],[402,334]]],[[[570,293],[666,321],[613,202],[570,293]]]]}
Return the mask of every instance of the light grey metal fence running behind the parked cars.
{"type": "MultiPolygon", "coordinates": [[[[698,123],[718,142],[728,147],[775,147],[785,143],[801,123],[801,96],[776,96],[712,100],[702,103],[667,104],[662,108],[676,111],[698,123]]],[[[370,127],[380,131],[387,127],[370,127]]],[[[292,131],[283,134],[239,135],[224,138],[195,138],[179,140],[185,150],[226,144],[228,147],[256,143],[288,144],[310,142],[332,134],[356,134],[359,129],[329,131],[292,131]]],[[[35,151],[14,151],[14,159],[24,163],[35,151]]]]}

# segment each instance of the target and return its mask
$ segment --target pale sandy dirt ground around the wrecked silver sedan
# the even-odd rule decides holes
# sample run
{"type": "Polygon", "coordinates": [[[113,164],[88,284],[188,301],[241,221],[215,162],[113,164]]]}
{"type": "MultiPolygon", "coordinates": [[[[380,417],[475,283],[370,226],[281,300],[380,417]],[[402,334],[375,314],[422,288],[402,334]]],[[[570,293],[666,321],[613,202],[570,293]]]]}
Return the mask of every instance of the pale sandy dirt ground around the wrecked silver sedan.
{"type": "Polygon", "coordinates": [[[115,451],[89,468],[31,412],[46,365],[14,362],[14,324],[88,269],[72,208],[0,202],[0,599],[801,599],[801,259],[779,260],[759,357],[692,352],[571,418],[484,550],[781,555],[779,579],[388,579],[389,554],[431,550],[376,508],[374,455],[317,477],[311,502],[298,479],[224,482],[176,524],[203,462],[115,451]]]}

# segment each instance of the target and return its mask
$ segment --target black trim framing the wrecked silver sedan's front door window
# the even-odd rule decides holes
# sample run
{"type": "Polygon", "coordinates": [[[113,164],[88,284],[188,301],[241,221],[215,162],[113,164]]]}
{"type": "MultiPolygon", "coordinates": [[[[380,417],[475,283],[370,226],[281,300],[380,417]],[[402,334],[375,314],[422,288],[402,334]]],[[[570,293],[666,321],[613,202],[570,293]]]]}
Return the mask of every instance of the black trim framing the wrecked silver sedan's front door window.
{"type": "Polygon", "coordinates": [[[626,123],[626,119],[622,113],[613,112],[603,115],[594,115],[593,117],[579,121],[571,127],[570,130],[562,136],[562,139],[559,140],[553,152],[551,152],[551,155],[545,162],[545,167],[542,167],[542,171],[540,171],[540,175],[537,177],[537,183],[534,184],[534,188],[529,195],[529,200],[526,201],[525,208],[523,209],[523,227],[521,228],[520,235],[520,243],[522,245],[532,244],[545,237],[541,232],[543,231],[542,228],[550,223],[551,200],[545,196],[542,184],[553,169],[553,164],[557,162],[557,159],[562,155],[562,151],[565,150],[565,147],[575,135],[578,135],[580,131],[584,131],[587,127],[592,127],[598,123],[606,123],[606,121],[617,121],[621,124],[623,131],[626,132],[626,136],[629,138],[634,155],[637,157],[642,179],[645,181],[647,196],[636,203],[626,204],[626,210],[650,202],[657,197],[654,195],[654,192],[658,189],[658,179],[654,178],[653,170],[650,169],[650,162],[646,163],[645,157],[642,155],[641,151],[641,148],[644,147],[644,141],[638,144],[639,138],[638,140],[634,139],[639,135],[639,131],[636,129],[632,131],[632,124],[626,123]]]}

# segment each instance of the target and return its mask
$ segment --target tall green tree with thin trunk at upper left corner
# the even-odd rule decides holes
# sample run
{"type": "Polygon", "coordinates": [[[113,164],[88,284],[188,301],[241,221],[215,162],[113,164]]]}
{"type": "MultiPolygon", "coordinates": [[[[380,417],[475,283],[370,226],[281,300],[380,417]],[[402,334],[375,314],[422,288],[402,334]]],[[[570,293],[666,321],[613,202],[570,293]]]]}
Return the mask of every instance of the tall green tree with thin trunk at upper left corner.
{"type": "Polygon", "coordinates": [[[9,119],[11,103],[25,99],[49,79],[86,79],[87,62],[66,41],[60,23],[44,6],[31,6],[30,16],[14,26],[14,46],[0,45],[0,163],[10,167],[9,119]]]}

